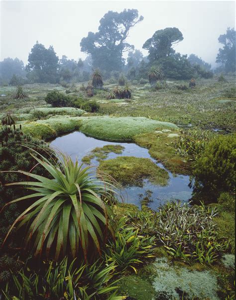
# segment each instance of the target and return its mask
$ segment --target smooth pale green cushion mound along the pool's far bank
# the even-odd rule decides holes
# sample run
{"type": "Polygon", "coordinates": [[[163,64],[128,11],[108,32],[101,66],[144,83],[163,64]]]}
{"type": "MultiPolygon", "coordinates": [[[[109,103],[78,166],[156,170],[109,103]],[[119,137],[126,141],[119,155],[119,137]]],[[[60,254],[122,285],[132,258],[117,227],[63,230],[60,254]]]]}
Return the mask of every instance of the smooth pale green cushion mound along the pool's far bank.
{"type": "Polygon", "coordinates": [[[161,129],[175,129],[175,124],[143,117],[82,117],[80,130],[90,136],[108,141],[132,141],[135,135],[161,129]]]}

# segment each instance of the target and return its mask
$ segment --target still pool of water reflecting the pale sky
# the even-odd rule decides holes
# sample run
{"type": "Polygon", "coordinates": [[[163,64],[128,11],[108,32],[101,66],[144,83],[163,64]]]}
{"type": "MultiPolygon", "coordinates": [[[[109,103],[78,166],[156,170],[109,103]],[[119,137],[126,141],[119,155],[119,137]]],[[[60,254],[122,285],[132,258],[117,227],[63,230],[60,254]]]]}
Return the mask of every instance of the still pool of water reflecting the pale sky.
{"type": "MultiPolygon", "coordinates": [[[[116,143],[97,140],[87,137],[81,132],[73,132],[56,138],[50,143],[50,146],[55,150],[60,150],[68,155],[75,161],[81,159],[90,153],[96,147],[103,147],[105,145],[121,145],[124,150],[121,154],[109,153],[106,159],[115,158],[117,156],[135,156],[149,158],[155,162],[159,167],[165,167],[153,159],[148,150],[142,148],[134,143],[116,143]]],[[[93,166],[98,166],[99,162],[96,158],[91,160],[93,166]]],[[[168,171],[168,170],[167,170],[168,171]]],[[[143,181],[143,186],[130,186],[123,188],[122,195],[125,203],[132,203],[140,207],[140,195],[145,195],[146,191],[151,191],[151,199],[153,200],[148,204],[152,209],[157,209],[161,204],[172,199],[179,199],[187,202],[192,195],[192,188],[189,187],[189,176],[173,175],[168,171],[169,180],[166,186],[158,186],[150,183],[148,180],[143,181]]]]}

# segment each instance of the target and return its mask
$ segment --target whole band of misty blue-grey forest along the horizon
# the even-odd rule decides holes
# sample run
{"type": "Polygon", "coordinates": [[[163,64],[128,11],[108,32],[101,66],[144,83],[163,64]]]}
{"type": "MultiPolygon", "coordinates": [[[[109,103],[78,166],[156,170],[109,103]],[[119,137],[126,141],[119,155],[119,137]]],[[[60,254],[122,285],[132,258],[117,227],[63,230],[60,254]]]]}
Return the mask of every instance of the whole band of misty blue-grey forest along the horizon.
{"type": "MultiPolygon", "coordinates": [[[[89,32],[80,41],[81,51],[87,58],[76,61],[56,55],[53,46],[46,48],[36,41],[25,66],[18,58],[5,58],[0,62],[0,84],[22,85],[26,83],[69,83],[88,81],[91,72],[99,69],[103,77],[117,79],[124,73],[130,80],[146,79],[151,67],[160,67],[166,78],[191,79],[213,76],[211,65],[195,54],[181,55],[173,48],[184,37],[176,27],[157,30],[144,41],[142,48],[148,50],[143,56],[140,50],[126,42],[126,38],[137,23],[143,20],[137,9],[121,12],[108,11],[100,20],[97,32],[89,32]],[[123,53],[128,52],[127,59],[123,53]]],[[[218,38],[222,44],[216,57],[219,67],[214,72],[235,72],[234,28],[218,38]]]]}

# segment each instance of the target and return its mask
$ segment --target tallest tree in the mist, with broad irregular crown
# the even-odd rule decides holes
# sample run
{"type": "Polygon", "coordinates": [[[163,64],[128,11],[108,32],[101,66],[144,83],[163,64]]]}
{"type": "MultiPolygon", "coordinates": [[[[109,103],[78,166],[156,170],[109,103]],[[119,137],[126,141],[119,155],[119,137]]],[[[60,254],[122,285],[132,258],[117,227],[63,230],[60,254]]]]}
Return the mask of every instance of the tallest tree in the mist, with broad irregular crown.
{"type": "Polygon", "coordinates": [[[108,11],[100,20],[99,31],[83,37],[81,51],[91,54],[93,66],[101,70],[120,70],[124,65],[122,53],[133,48],[125,42],[129,30],[143,20],[137,9],[108,11]]]}

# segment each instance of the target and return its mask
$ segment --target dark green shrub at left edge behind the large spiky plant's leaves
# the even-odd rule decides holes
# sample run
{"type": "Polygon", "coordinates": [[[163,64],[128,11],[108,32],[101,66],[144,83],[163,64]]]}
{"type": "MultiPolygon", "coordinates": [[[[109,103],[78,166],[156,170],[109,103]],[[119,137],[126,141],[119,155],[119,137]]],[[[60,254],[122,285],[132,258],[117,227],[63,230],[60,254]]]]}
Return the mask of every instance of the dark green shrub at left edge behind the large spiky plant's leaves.
{"type": "MultiPolygon", "coordinates": [[[[27,180],[27,176],[17,172],[2,172],[2,171],[17,171],[22,169],[38,175],[49,175],[40,165],[36,165],[35,159],[30,155],[30,150],[22,145],[31,147],[33,150],[44,154],[48,159],[53,153],[48,149],[48,145],[43,141],[31,138],[25,135],[21,130],[10,129],[9,127],[2,127],[0,129],[0,211],[3,206],[16,199],[28,194],[26,189],[18,188],[17,186],[4,186],[4,184],[12,183],[15,181],[27,180]],[[50,152],[49,152],[50,151],[50,152]]],[[[55,157],[54,157],[55,158],[55,157]]],[[[24,209],[18,206],[17,203],[12,203],[5,207],[0,213],[0,247],[6,235],[9,226],[13,223],[14,219],[24,209]]],[[[17,271],[21,266],[21,259],[18,258],[18,250],[22,243],[22,236],[16,235],[15,231],[12,232],[7,243],[1,248],[0,254],[0,284],[4,278],[11,276],[9,269],[12,272],[17,271]]],[[[1,289],[1,287],[0,287],[1,289]]]]}

